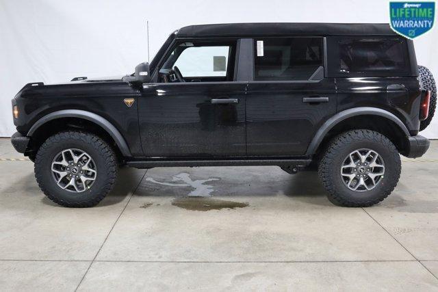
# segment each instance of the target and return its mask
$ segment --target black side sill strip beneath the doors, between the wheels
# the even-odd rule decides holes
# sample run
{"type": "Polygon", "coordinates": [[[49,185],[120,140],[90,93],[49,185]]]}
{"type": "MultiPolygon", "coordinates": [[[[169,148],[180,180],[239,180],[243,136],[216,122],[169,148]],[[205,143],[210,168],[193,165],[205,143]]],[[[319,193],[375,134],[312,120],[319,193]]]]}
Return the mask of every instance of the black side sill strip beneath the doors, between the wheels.
{"type": "Polygon", "coordinates": [[[133,168],[159,168],[172,166],[244,166],[244,165],[276,165],[304,168],[311,159],[228,159],[228,160],[145,160],[127,161],[133,168]]]}

